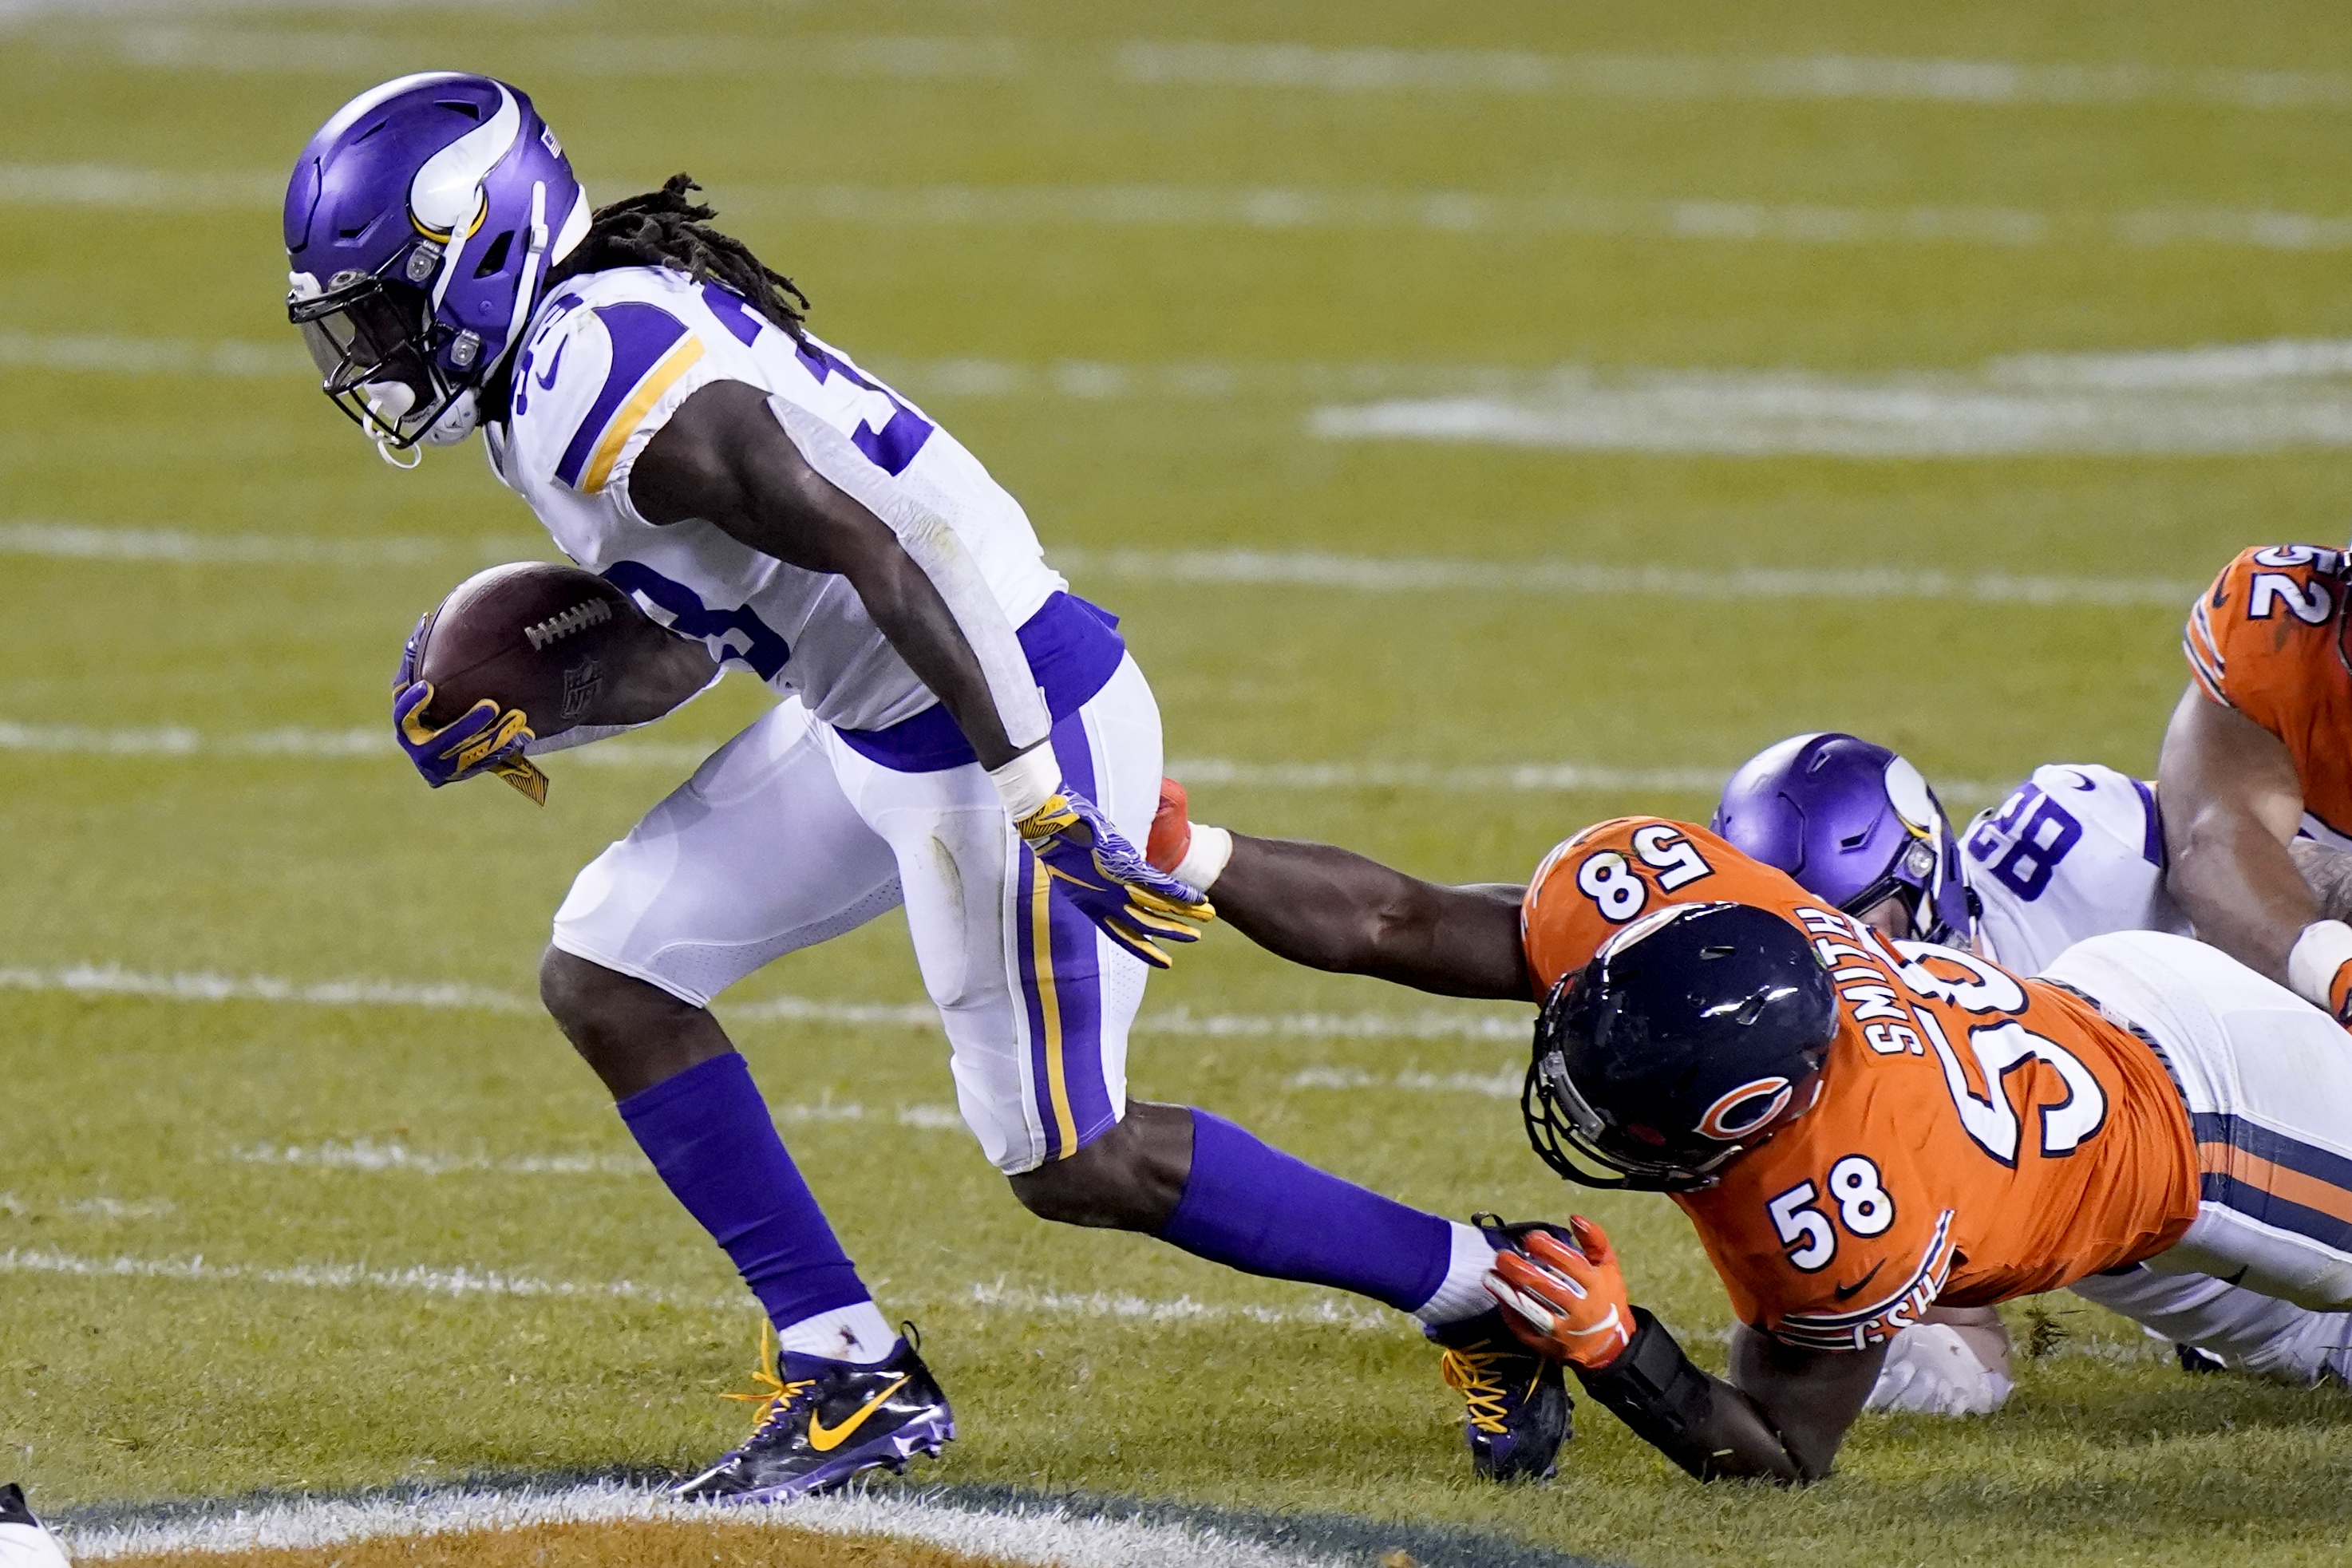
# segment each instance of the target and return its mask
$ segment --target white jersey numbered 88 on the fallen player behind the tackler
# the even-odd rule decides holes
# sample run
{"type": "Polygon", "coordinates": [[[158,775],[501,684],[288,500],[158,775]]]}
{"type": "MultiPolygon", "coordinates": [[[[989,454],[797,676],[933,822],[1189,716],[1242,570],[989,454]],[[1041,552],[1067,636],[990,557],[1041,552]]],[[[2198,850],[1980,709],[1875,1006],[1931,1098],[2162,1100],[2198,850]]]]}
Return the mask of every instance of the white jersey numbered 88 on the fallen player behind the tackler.
{"type": "Polygon", "coordinates": [[[2164,891],[2157,792],[2098,764],[2034,769],[1962,839],[1983,900],[1985,957],[2034,976],[2074,943],[2107,931],[2190,936],[2164,891]]]}

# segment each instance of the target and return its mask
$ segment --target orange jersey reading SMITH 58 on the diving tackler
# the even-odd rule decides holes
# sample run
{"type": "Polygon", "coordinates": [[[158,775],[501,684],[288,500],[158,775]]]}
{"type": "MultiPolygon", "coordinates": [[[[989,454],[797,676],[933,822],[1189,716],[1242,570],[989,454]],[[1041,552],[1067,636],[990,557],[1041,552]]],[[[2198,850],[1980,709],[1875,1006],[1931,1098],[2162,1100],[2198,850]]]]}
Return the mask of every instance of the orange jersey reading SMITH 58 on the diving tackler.
{"type": "Polygon", "coordinates": [[[1677,1194],[1743,1321],[1863,1349],[1919,1309],[2051,1291],[2171,1246],[2197,1213],[2187,1112],[2157,1056],[2072,992],[1884,943],[1689,823],[1621,818],[1538,867],[1541,985],[1663,903],[1736,900],[1813,938],[1839,1032],[1813,1107],[1677,1194]]]}

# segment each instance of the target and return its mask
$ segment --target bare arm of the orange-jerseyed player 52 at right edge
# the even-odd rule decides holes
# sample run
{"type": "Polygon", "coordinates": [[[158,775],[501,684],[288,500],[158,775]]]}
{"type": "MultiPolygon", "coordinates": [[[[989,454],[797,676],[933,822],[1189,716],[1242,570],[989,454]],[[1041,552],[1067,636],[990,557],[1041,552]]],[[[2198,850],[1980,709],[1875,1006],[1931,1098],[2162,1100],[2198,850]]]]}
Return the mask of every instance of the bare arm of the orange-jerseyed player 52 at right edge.
{"type": "MultiPolygon", "coordinates": [[[[2197,936],[2310,997],[2288,959],[2321,914],[2286,851],[2303,820],[2303,785],[2286,745],[2190,684],[2164,731],[2157,799],[2171,863],[2164,882],[2197,936]]],[[[2321,997],[2352,959],[2352,933],[2345,938],[2347,952],[2333,954],[2319,976],[2321,997]]],[[[2324,954],[2314,950],[2307,959],[2312,966],[2324,954]]]]}

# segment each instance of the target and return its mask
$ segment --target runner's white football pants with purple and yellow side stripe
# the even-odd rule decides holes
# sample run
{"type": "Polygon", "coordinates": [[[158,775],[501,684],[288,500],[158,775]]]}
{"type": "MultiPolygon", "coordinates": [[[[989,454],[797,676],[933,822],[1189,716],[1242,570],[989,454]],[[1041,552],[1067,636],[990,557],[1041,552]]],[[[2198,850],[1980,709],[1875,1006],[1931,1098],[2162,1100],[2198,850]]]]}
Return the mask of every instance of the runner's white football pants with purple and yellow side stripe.
{"type": "MultiPolygon", "coordinates": [[[[1160,804],[1160,705],[1134,658],[1054,726],[1063,780],[1131,842],[1160,804]]],[[[1049,896],[978,764],[901,773],[797,701],[755,719],[597,856],[555,945],[680,1001],[906,903],[955,1098],[1007,1175],[1127,1114],[1145,966],[1049,896]]]]}

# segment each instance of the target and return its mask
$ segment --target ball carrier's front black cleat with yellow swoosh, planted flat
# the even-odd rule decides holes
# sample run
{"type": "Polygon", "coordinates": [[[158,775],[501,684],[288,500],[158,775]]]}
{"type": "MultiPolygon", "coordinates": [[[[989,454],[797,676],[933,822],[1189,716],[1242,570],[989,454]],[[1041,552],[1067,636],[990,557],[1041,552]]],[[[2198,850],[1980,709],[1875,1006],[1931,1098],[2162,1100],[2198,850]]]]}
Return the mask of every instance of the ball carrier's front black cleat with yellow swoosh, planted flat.
{"type": "Polygon", "coordinates": [[[873,1366],[783,1356],[762,1335],[760,1394],[729,1394],[760,1403],[750,1439],[677,1488],[689,1502],[790,1502],[830,1493],[851,1476],[887,1467],[906,1474],[917,1453],[938,1458],[955,1441],[955,1413],[915,1354],[920,1335],[906,1324],[898,1352],[873,1366]]]}

